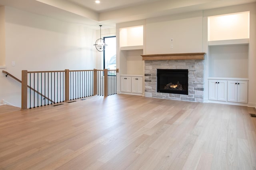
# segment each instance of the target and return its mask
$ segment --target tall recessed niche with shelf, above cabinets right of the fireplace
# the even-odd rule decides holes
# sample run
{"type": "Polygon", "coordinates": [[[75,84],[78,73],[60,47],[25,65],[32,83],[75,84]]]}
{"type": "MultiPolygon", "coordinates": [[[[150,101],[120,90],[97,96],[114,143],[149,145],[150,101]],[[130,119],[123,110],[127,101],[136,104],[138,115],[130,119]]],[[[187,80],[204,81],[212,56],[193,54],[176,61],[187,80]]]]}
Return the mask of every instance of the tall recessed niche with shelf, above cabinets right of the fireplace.
{"type": "Polygon", "coordinates": [[[208,17],[209,77],[248,78],[250,12],[208,17]]]}

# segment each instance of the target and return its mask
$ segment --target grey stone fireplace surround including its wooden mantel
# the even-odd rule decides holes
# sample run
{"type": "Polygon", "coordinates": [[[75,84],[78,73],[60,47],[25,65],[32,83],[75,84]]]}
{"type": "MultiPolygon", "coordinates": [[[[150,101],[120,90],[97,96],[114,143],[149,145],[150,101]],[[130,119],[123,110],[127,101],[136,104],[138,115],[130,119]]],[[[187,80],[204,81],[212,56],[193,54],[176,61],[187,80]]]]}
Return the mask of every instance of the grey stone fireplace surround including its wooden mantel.
{"type": "MultiPolygon", "coordinates": [[[[204,55],[205,53],[142,55],[142,59],[145,60],[145,97],[203,102],[204,55]],[[171,89],[171,91],[168,92],[159,91],[157,85],[159,76],[157,73],[158,70],[188,70],[187,93],[176,94],[175,91],[177,87],[174,87],[174,89],[171,89]]],[[[177,75],[176,78],[179,76],[183,75],[177,75]]],[[[177,82],[170,83],[177,84],[177,82]]],[[[164,86],[169,86],[171,85],[170,83],[166,81],[162,84],[165,84],[164,86]]],[[[181,82],[179,82],[179,84],[181,84],[181,82]]]]}

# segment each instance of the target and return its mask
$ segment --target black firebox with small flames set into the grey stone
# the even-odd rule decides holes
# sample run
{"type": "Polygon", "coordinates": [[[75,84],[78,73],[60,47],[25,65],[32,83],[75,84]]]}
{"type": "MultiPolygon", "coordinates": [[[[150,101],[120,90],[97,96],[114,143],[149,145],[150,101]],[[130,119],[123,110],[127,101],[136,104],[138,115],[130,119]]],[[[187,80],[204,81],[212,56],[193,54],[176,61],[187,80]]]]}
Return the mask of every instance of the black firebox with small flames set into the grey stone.
{"type": "Polygon", "coordinates": [[[188,95],[188,69],[157,69],[157,92],[188,95]]]}

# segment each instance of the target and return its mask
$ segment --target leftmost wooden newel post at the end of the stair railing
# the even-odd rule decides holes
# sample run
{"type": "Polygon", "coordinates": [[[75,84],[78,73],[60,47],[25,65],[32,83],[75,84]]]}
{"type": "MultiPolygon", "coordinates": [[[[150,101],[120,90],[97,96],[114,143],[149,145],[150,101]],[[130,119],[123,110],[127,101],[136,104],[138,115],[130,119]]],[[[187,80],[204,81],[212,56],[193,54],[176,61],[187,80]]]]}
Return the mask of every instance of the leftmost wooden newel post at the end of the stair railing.
{"type": "Polygon", "coordinates": [[[28,109],[28,70],[21,72],[21,110],[28,109]]]}

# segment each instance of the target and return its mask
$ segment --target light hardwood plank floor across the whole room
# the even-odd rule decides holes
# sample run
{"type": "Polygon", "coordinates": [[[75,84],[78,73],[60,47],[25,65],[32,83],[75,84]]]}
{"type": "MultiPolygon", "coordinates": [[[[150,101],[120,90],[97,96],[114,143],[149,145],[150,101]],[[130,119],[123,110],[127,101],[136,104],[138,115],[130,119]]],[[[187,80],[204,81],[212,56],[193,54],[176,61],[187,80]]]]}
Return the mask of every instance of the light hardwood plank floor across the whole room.
{"type": "Polygon", "coordinates": [[[0,170],[256,170],[253,108],[112,95],[0,110],[0,170]]]}

